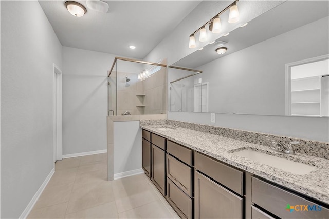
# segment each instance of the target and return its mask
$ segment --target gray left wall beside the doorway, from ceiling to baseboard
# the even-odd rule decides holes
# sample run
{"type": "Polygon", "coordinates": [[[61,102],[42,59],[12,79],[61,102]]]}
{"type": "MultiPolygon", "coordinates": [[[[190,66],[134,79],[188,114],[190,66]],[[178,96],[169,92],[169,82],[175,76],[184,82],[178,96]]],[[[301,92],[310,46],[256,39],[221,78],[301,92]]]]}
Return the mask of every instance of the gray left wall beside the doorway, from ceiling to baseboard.
{"type": "Polygon", "coordinates": [[[38,1],[1,1],[1,218],[17,218],[53,169],[52,65],[62,46],[38,1]]]}

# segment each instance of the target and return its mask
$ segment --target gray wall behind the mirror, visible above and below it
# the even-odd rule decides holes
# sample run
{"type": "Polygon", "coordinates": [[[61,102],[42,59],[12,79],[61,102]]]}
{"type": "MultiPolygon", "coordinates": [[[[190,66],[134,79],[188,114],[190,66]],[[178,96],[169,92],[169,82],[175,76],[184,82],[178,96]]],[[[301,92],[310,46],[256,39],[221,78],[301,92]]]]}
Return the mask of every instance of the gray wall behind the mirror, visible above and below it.
{"type": "MultiPolygon", "coordinates": [[[[259,4],[250,6],[258,11],[250,14],[248,20],[270,10],[283,1],[240,1],[239,4],[259,4]]],[[[195,49],[188,48],[188,36],[208,19],[218,13],[225,1],[201,2],[163,41],[161,41],[144,59],[150,62],[167,57],[168,64],[191,54],[195,49]]],[[[229,32],[229,31],[225,31],[229,32]]],[[[211,41],[211,39],[209,39],[211,41]]],[[[170,76],[170,75],[169,75],[170,76]]],[[[169,112],[168,118],[186,122],[196,122],[214,126],[229,127],[270,134],[300,137],[310,140],[329,141],[329,120],[326,118],[303,118],[287,116],[229,115],[216,114],[216,123],[210,123],[209,113],[169,112]]]]}

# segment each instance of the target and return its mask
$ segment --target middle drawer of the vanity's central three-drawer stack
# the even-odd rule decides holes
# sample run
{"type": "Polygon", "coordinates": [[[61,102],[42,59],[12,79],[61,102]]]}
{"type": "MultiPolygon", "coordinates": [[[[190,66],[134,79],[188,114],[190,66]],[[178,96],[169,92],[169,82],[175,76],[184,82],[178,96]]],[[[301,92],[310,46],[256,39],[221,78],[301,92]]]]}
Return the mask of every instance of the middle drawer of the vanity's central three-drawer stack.
{"type": "Polygon", "coordinates": [[[192,168],[167,154],[167,177],[192,197],[192,168]]]}

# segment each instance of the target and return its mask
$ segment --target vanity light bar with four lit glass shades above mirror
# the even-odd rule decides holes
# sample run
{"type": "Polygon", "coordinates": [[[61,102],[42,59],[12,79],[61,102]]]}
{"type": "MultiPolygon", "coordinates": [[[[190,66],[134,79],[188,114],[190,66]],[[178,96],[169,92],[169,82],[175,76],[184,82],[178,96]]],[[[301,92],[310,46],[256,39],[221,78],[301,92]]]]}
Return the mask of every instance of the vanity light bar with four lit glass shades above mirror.
{"type": "MultiPolygon", "coordinates": [[[[212,33],[220,33],[222,31],[222,24],[221,24],[221,18],[220,18],[220,16],[221,16],[221,14],[223,14],[228,9],[230,9],[228,22],[229,23],[236,23],[236,22],[238,22],[239,19],[240,19],[240,17],[239,17],[239,10],[237,10],[237,5],[236,5],[237,1],[239,1],[239,0],[235,0],[232,4],[230,4],[229,6],[227,6],[220,13],[218,13],[214,17],[212,17],[210,19],[210,21],[208,21],[202,27],[200,27],[199,29],[197,29],[196,31],[194,31],[194,33],[192,33],[190,35],[189,48],[193,49],[193,48],[196,47],[195,34],[197,32],[200,32],[199,33],[199,41],[200,42],[207,41],[207,30],[206,30],[206,26],[207,25],[209,25],[209,30],[212,33]]],[[[227,35],[228,34],[229,33],[227,33],[227,35]]],[[[224,36],[227,36],[227,35],[224,35],[224,36]]]]}

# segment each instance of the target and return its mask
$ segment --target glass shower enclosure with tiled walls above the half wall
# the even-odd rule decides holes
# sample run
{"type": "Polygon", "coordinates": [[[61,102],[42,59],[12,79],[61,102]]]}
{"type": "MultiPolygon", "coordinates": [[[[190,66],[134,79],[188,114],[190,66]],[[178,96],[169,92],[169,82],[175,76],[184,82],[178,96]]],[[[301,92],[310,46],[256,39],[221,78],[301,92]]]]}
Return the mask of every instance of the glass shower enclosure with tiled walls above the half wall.
{"type": "Polygon", "coordinates": [[[166,65],[116,57],[108,74],[107,115],[166,114],[166,65]]]}

